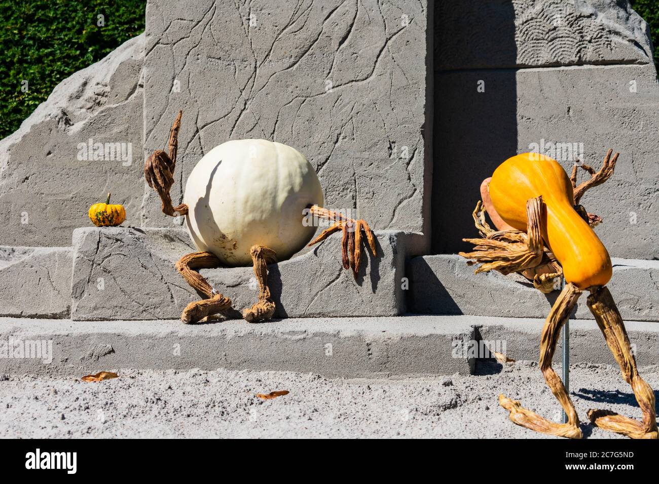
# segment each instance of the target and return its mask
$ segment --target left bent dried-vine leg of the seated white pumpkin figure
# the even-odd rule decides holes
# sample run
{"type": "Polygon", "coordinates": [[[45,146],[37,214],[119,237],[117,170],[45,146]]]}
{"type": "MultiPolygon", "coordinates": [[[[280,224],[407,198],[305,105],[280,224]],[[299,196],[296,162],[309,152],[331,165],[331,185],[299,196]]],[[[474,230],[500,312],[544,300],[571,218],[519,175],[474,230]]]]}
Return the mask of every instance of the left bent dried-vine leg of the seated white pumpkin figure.
{"type": "Polygon", "coordinates": [[[225,309],[231,308],[231,300],[216,292],[208,281],[197,272],[197,269],[211,269],[219,267],[219,265],[219,259],[210,252],[192,252],[192,254],[183,255],[176,263],[177,271],[188,284],[208,298],[191,302],[183,309],[181,321],[184,323],[196,323],[208,315],[221,313],[225,309]]]}

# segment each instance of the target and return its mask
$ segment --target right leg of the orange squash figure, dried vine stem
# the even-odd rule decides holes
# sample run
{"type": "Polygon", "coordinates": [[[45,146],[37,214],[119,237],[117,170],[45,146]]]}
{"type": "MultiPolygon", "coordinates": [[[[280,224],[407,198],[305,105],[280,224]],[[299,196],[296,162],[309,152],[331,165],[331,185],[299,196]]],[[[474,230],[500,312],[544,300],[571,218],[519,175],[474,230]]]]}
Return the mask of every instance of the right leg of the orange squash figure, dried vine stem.
{"type": "Polygon", "coordinates": [[[606,344],[620,365],[623,378],[634,390],[639,402],[643,421],[624,417],[608,410],[588,410],[588,418],[600,429],[621,433],[632,439],[657,439],[656,410],[654,392],[639,375],[636,360],[631,352],[629,337],[616,303],[606,286],[591,288],[588,308],[602,330],[606,344]]]}

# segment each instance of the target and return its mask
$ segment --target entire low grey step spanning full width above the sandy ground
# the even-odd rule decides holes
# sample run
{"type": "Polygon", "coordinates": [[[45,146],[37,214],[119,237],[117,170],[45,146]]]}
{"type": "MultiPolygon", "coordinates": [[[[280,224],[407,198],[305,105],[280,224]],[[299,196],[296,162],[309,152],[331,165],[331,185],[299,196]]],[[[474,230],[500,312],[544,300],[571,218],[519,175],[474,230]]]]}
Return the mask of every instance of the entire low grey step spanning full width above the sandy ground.
{"type": "MultiPolygon", "coordinates": [[[[202,325],[0,318],[0,373],[79,376],[125,367],[224,367],[327,377],[466,374],[482,358],[490,358],[486,347],[515,360],[537,361],[542,325],[542,319],[465,315],[202,325]],[[43,348],[42,353],[34,348],[43,348]]],[[[594,321],[570,325],[572,363],[615,364],[594,321]]],[[[659,325],[631,321],[626,326],[639,365],[659,363],[659,325]]],[[[559,363],[560,350],[556,355],[559,363]]]]}

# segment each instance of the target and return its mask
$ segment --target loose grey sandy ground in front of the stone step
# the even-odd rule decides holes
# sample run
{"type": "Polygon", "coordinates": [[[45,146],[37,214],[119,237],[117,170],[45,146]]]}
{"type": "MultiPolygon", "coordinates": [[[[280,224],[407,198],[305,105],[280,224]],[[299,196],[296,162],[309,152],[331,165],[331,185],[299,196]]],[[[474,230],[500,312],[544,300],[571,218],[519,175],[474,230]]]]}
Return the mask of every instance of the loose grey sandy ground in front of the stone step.
{"type": "MultiPolygon", "coordinates": [[[[658,369],[641,368],[655,389],[658,369]]],[[[223,369],[117,372],[118,379],[100,383],[79,381],[82,374],[0,376],[0,437],[549,438],[509,421],[499,393],[560,419],[559,404],[534,362],[487,363],[478,375],[403,380],[223,369]],[[267,401],[255,396],[273,390],[289,394],[267,401]]],[[[572,365],[571,389],[587,439],[621,438],[592,427],[589,408],[641,417],[616,367],[572,365]]]]}

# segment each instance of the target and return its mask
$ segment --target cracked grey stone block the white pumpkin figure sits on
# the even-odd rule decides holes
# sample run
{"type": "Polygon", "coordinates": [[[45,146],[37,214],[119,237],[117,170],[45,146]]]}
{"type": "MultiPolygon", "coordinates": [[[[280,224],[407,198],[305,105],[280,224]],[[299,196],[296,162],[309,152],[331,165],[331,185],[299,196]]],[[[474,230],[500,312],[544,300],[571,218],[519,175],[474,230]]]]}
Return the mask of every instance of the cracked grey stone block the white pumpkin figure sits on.
{"type": "MultiPolygon", "coordinates": [[[[405,311],[403,258],[415,238],[391,231],[377,232],[376,238],[380,257],[364,256],[357,281],[341,265],[340,234],[270,265],[275,317],[386,316],[405,311]]],[[[195,251],[181,229],[77,229],[72,319],[177,319],[188,303],[200,299],[175,269],[178,259],[195,251]]],[[[258,298],[251,267],[200,272],[231,298],[234,309],[242,311],[258,298]]]]}

